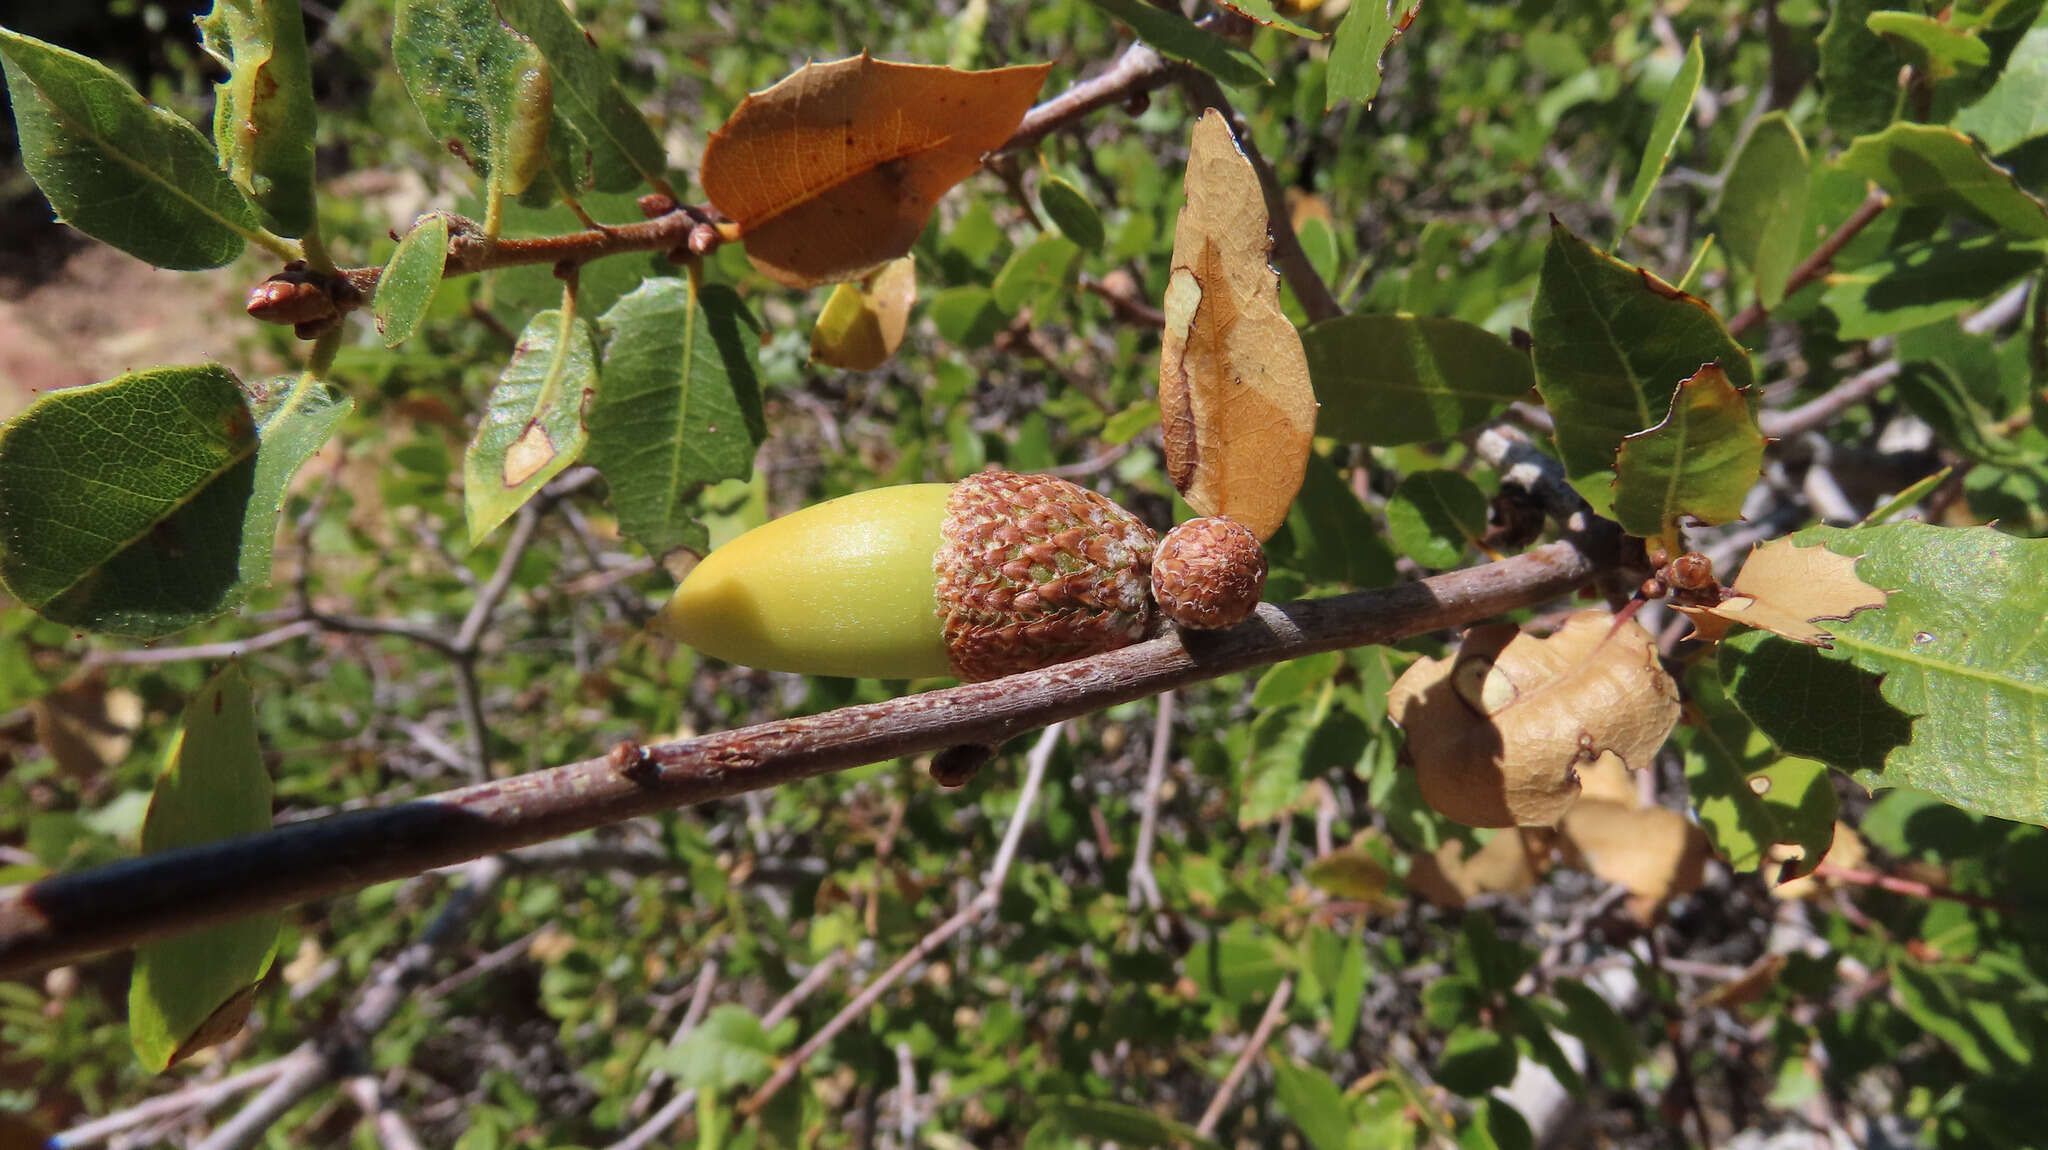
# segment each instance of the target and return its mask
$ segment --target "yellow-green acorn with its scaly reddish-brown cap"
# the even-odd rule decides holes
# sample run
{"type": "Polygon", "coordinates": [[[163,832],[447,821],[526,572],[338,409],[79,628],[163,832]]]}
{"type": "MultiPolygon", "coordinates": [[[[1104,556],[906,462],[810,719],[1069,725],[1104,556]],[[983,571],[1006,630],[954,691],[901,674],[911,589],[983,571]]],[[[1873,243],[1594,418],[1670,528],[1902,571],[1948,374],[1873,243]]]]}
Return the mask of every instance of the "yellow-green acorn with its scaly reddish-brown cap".
{"type": "Polygon", "coordinates": [[[1049,475],[883,487],[713,550],[655,628],[770,671],[993,679],[1143,638],[1153,544],[1049,475]]]}

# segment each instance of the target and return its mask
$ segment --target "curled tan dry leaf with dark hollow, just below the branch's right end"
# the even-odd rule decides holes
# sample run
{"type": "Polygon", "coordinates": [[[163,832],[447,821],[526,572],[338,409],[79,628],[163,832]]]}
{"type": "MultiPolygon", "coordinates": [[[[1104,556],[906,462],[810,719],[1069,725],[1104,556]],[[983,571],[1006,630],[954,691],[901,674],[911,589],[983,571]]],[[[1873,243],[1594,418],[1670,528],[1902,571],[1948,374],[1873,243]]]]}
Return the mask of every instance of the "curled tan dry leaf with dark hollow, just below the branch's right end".
{"type": "Polygon", "coordinates": [[[1456,655],[1421,659],[1386,694],[1430,806],[1468,827],[1550,827],[1579,769],[1642,765],[1677,722],[1677,685],[1634,620],[1589,610],[1548,638],[1475,626],[1456,655]]]}

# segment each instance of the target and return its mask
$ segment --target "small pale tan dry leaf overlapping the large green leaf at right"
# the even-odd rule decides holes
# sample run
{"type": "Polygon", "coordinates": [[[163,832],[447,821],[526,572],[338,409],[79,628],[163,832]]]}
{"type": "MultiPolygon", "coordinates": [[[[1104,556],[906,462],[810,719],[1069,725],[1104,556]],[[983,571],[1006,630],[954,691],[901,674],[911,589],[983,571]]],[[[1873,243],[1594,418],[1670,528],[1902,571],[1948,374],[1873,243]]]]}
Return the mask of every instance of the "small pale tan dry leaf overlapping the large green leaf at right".
{"type": "Polygon", "coordinates": [[[1884,595],[1855,577],[1853,557],[1780,538],[1749,552],[1718,606],[1679,610],[1692,618],[1692,638],[1702,643],[1718,643],[1733,624],[1743,624],[1794,643],[1833,647],[1835,636],[1815,622],[1882,608],[1884,595]]]}

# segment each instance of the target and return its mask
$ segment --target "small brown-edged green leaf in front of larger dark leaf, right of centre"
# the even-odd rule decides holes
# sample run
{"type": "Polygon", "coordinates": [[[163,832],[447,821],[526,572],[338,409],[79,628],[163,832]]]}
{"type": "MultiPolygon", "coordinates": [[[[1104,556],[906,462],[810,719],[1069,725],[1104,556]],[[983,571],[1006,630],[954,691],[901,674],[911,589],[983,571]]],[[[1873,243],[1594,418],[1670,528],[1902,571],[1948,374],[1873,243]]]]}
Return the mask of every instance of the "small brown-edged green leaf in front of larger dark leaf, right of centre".
{"type": "Polygon", "coordinates": [[[1763,473],[1749,397],[1718,366],[1677,385],[1671,413],[1614,454],[1614,518],[1632,536],[1675,540],[1681,520],[1724,524],[1763,473]]]}

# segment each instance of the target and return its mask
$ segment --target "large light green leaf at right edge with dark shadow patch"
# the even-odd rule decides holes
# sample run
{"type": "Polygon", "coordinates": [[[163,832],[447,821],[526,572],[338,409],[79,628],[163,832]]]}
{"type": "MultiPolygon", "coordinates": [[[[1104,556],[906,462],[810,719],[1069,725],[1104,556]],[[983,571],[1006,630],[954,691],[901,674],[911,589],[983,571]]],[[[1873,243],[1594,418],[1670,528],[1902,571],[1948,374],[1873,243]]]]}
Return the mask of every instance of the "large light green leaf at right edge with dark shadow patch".
{"type": "Polygon", "coordinates": [[[1884,610],[1831,622],[1833,651],[1722,643],[1743,712],[1788,753],[1853,769],[1866,786],[2048,823],[2048,540],[1929,524],[1794,538],[1860,555],[1858,577],[1892,593],[1884,610]]]}

